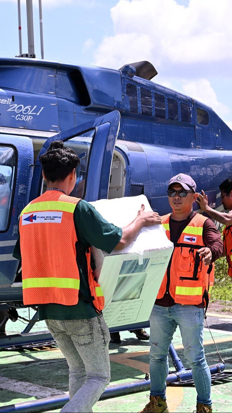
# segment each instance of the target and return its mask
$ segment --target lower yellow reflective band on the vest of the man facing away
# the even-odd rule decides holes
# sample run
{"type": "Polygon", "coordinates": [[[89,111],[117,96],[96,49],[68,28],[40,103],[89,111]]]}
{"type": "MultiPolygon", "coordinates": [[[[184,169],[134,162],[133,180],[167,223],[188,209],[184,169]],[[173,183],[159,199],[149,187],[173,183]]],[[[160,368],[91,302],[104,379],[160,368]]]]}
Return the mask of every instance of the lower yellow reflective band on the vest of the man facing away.
{"type": "Polygon", "coordinates": [[[57,288],[74,288],[79,290],[80,280],[75,278],[26,278],[23,280],[24,288],[38,288],[38,287],[57,287],[57,288]]]}

